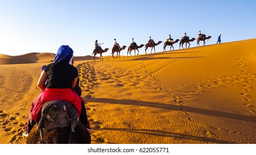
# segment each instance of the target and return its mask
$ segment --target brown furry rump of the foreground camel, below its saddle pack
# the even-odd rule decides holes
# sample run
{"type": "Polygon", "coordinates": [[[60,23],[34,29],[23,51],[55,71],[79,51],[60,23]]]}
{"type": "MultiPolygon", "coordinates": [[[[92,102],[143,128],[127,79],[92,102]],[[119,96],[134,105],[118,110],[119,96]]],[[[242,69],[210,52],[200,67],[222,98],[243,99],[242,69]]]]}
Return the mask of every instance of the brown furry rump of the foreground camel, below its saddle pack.
{"type": "MultiPolygon", "coordinates": [[[[42,141],[44,144],[68,144],[70,127],[59,127],[53,130],[42,130],[42,141]]],[[[26,138],[27,144],[37,144],[40,143],[40,132],[37,130],[37,126],[34,126],[29,132],[28,137],[26,138]]],[[[74,144],[90,144],[91,136],[87,128],[81,123],[78,122],[78,125],[75,127],[75,132],[72,133],[70,143],[74,144]]]]}

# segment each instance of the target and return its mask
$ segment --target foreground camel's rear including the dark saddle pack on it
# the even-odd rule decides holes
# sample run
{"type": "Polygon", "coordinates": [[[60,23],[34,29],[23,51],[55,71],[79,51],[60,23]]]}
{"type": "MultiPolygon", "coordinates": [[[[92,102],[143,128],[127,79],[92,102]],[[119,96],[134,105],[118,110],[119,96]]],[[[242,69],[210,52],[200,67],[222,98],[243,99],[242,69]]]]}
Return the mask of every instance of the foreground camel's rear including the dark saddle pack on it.
{"type": "MultiPolygon", "coordinates": [[[[32,119],[29,116],[29,120],[32,119]]],[[[53,100],[43,104],[37,125],[26,143],[91,143],[90,133],[78,120],[78,111],[67,101],[53,100]],[[40,132],[41,131],[41,132],[40,132]]]]}

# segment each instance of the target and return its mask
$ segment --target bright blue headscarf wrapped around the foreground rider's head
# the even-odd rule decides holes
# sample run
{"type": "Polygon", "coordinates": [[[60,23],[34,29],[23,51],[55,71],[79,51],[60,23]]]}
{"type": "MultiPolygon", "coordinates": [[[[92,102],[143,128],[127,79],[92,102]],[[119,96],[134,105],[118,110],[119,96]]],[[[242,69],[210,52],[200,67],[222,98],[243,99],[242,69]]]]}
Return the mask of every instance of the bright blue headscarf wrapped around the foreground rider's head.
{"type": "Polygon", "coordinates": [[[73,57],[73,50],[68,45],[62,45],[58,49],[53,62],[66,61],[70,62],[73,57]]]}

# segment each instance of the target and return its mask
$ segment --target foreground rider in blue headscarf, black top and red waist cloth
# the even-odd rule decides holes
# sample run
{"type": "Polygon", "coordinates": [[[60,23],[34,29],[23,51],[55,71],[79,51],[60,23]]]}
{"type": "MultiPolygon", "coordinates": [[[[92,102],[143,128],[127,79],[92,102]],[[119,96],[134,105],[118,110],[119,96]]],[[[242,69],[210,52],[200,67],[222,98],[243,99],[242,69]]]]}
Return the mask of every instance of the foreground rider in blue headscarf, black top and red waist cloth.
{"type": "Polygon", "coordinates": [[[73,63],[73,50],[68,45],[62,45],[58,49],[53,63],[42,68],[43,71],[40,74],[37,85],[43,91],[32,102],[27,126],[23,133],[24,136],[28,136],[28,133],[39,120],[41,107],[46,102],[53,100],[63,100],[73,104],[78,110],[79,120],[90,131],[84,100],[73,91],[78,81],[78,70],[72,65],[73,63]]]}

